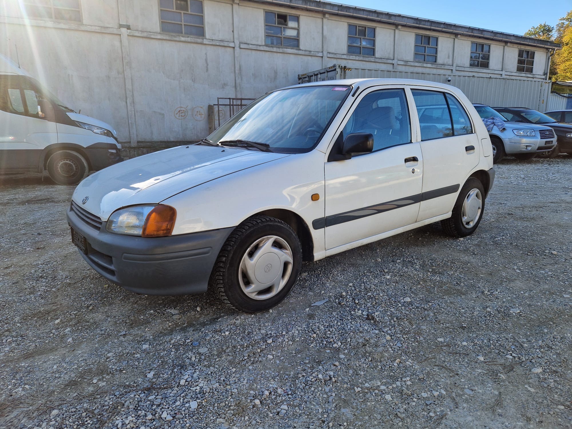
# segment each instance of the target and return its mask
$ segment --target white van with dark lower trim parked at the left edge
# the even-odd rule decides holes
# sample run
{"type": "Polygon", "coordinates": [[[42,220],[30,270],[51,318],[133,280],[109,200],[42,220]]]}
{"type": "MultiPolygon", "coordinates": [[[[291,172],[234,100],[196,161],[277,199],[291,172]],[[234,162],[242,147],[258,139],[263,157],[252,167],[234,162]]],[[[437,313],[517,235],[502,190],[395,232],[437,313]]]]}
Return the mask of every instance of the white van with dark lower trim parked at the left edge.
{"type": "Polygon", "coordinates": [[[77,185],[92,170],[122,161],[117,133],[78,114],[0,55],[0,172],[47,170],[60,185],[77,185]]]}

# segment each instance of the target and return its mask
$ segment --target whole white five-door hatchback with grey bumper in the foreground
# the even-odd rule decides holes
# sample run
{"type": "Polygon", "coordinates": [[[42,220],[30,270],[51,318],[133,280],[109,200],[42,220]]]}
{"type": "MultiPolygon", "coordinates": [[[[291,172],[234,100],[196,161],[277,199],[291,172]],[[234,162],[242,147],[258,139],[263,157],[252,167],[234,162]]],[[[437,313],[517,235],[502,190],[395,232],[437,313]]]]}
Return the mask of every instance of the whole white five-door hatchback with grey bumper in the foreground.
{"type": "Polygon", "coordinates": [[[86,262],[130,291],[210,285],[256,312],[288,295],[302,261],[436,221],[470,235],[493,180],[490,138],[459,89],[316,82],[265,94],[198,144],[94,173],[67,220],[86,262]],[[420,125],[424,106],[443,117],[420,125]]]}

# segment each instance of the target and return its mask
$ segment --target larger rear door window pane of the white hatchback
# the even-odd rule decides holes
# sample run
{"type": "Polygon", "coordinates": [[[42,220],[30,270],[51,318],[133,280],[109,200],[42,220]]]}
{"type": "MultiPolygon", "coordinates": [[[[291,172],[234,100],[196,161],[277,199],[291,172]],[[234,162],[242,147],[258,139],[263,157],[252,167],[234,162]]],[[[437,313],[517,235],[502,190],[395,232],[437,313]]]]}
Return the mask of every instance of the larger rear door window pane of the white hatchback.
{"type": "Polygon", "coordinates": [[[447,101],[442,92],[412,89],[419,117],[421,140],[451,137],[453,126],[447,101]]]}

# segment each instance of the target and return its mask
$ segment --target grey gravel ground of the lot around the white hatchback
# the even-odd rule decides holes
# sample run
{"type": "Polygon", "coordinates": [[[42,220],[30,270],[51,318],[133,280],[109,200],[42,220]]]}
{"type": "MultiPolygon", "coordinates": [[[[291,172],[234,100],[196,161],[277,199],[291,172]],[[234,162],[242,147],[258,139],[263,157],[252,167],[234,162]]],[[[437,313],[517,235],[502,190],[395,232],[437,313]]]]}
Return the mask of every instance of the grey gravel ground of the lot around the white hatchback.
{"type": "Polygon", "coordinates": [[[571,177],[507,159],[475,235],[305,264],[257,315],[109,284],[70,243],[73,188],[4,178],[0,426],[572,427],[571,177]]]}

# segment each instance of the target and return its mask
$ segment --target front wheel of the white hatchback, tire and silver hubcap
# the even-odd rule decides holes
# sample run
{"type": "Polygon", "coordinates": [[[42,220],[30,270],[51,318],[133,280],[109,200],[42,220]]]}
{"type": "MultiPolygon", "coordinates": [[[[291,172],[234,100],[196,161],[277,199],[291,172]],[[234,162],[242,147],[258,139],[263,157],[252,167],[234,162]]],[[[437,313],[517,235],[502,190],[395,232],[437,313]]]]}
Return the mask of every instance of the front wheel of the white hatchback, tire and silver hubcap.
{"type": "Polygon", "coordinates": [[[301,266],[302,248],[293,229],[273,217],[253,216],[236,227],[225,241],[210,274],[209,286],[232,308],[256,313],[284,300],[296,283],[301,266]],[[269,286],[264,288],[265,285],[269,286]],[[253,291],[247,293],[250,289],[253,291]]]}

